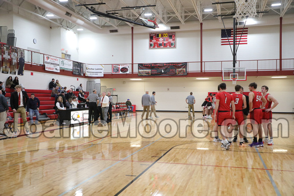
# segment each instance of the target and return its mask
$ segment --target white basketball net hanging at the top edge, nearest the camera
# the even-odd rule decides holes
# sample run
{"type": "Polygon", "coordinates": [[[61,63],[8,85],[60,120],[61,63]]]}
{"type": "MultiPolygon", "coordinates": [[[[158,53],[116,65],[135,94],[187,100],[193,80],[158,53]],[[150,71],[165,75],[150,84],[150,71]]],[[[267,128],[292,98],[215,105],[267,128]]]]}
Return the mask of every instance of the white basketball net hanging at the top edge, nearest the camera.
{"type": "Polygon", "coordinates": [[[255,17],[257,0],[235,0],[236,14],[233,16],[237,20],[247,17],[255,17]]]}

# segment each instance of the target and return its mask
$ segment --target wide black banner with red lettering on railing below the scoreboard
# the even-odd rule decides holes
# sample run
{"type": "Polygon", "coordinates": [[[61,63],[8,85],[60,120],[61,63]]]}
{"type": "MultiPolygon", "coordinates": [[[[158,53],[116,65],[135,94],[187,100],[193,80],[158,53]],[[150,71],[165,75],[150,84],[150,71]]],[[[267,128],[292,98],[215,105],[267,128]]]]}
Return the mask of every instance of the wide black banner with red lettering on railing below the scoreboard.
{"type": "Polygon", "coordinates": [[[187,63],[139,63],[138,75],[187,75],[187,63]]]}

